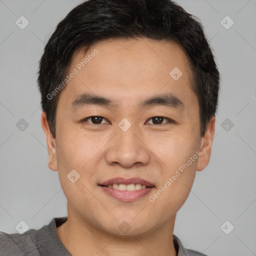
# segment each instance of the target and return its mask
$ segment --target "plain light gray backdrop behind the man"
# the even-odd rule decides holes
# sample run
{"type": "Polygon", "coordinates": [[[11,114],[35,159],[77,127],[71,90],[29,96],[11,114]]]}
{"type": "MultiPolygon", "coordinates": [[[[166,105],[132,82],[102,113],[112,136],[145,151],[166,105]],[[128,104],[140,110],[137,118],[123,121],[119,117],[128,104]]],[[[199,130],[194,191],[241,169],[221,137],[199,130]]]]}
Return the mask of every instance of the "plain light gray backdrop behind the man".
{"type": "MultiPolygon", "coordinates": [[[[17,232],[21,220],[38,229],[52,217],[67,215],[57,171],[47,165],[36,71],[45,42],[79,2],[0,0],[0,230],[4,232],[17,232]],[[15,24],[21,15],[29,21],[24,29],[15,24]],[[16,126],[21,118],[28,123],[23,131],[16,126]]],[[[189,197],[177,213],[174,234],[185,247],[209,256],[256,255],[256,0],[177,2],[204,26],[221,73],[221,91],[211,159],[196,172],[189,197]],[[226,15],[234,21],[229,29],[220,23],[226,15]],[[234,226],[229,234],[220,228],[226,220],[234,226]]],[[[230,25],[230,20],[224,22],[230,25]]]]}

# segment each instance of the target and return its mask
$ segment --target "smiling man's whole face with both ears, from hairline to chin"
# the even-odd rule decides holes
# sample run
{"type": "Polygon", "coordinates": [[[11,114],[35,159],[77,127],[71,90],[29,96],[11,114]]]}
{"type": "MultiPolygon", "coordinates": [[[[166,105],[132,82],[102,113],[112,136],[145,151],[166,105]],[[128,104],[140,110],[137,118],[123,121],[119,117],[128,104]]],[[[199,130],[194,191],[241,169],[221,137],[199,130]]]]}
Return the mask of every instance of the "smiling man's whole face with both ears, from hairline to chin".
{"type": "Polygon", "coordinates": [[[86,56],[73,55],[55,139],[42,114],[68,214],[115,235],[173,227],[214,133],[213,118],[200,137],[185,53],[174,42],[109,39],[86,56]]]}

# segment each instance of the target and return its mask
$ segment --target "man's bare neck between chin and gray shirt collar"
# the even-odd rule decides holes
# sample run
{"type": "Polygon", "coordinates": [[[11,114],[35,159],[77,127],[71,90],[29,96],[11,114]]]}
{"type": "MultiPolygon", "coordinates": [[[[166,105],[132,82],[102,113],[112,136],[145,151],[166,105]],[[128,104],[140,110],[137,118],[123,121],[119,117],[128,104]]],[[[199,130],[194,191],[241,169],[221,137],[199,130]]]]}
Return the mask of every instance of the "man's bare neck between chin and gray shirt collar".
{"type": "Polygon", "coordinates": [[[173,244],[175,216],[146,233],[120,236],[97,228],[73,214],[57,227],[62,244],[72,256],[177,256],[173,244]]]}

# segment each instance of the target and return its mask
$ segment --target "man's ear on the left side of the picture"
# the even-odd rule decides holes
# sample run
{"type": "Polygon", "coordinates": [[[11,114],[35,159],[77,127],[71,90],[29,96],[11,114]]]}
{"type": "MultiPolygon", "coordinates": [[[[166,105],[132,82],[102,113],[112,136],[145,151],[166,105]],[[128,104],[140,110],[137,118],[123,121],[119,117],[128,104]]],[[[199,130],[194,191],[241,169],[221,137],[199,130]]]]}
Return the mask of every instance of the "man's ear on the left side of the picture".
{"type": "Polygon", "coordinates": [[[47,121],[45,112],[41,113],[41,125],[46,136],[47,149],[48,149],[48,155],[49,155],[48,166],[51,170],[57,170],[56,143],[55,143],[55,139],[51,134],[49,123],[47,121]]]}

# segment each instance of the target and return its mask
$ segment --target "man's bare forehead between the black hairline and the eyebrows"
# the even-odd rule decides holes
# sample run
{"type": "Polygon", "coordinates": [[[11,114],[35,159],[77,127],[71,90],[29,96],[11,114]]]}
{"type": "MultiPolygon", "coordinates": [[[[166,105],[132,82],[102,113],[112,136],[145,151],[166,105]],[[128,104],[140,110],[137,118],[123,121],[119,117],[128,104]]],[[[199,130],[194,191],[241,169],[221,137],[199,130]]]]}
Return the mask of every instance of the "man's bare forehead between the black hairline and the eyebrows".
{"type": "Polygon", "coordinates": [[[74,52],[68,73],[73,70],[76,74],[61,96],[69,104],[84,92],[104,95],[120,105],[158,92],[172,92],[181,98],[190,95],[193,100],[195,96],[187,56],[181,46],[171,41],[97,41],[86,51],[80,48],[74,52]]]}

